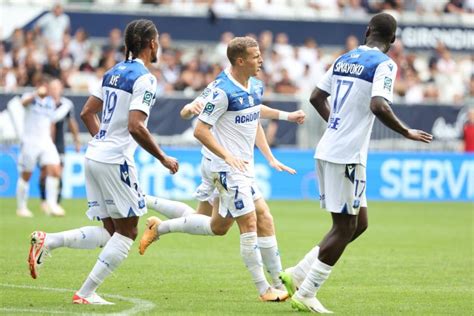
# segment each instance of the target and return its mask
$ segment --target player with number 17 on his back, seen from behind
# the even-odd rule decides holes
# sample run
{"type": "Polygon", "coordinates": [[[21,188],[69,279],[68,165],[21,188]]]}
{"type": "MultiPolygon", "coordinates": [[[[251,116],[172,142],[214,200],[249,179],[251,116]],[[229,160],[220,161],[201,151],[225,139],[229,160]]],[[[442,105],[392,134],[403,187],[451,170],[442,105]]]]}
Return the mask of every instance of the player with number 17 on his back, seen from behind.
{"type": "Polygon", "coordinates": [[[389,105],[397,65],[385,53],[396,29],[391,15],[375,15],[365,45],[336,59],[311,94],[311,104],[328,122],[315,158],[321,207],[331,212],[333,224],[319,246],[281,275],[297,310],[330,313],[315,295],[346,246],[367,228],[365,166],[375,116],[408,139],[432,140],[430,134],[406,127],[389,105]]]}

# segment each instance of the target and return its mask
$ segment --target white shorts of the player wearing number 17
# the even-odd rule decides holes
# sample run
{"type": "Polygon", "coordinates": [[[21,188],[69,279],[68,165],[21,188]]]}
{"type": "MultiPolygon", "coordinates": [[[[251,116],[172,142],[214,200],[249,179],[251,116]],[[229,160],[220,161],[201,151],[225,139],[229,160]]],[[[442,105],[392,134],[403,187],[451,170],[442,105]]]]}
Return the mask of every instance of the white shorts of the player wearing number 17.
{"type": "Polygon", "coordinates": [[[321,208],[331,213],[357,215],[367,207],[366,171],[361,164],[316,160],[321,208]]]}

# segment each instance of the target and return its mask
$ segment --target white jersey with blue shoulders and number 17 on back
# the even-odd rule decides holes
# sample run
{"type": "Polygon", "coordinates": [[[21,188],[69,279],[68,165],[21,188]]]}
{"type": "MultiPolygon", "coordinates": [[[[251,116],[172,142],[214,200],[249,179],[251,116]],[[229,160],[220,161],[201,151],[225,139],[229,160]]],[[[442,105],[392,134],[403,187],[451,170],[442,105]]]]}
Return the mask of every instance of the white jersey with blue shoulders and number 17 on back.
{"type": "Polygon", "coordinates": [[[359,46],[340,56],[317,87],[331,95],[328,127],[315,158],[340,164],[367,164],[375,115],[372,97],[393,100],[397,65],[378,48],[359,46]]]}

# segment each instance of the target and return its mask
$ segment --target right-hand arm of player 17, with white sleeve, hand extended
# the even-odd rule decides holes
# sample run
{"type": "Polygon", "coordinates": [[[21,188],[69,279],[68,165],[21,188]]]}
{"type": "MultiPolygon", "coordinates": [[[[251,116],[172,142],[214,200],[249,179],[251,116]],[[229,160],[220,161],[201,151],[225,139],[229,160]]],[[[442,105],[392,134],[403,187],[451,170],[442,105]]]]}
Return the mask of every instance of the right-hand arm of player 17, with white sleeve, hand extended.
{"type": "Polygon", "coordinates": [[[393,113],[390,104],[393,101],[393,83],[397,74],[397,65],[385,61],[377,66],[372,84],[370,110],[388,128],[404,137],[424,143],[429,143],[433,136],[420,130],[410,129],[393,113]]]}

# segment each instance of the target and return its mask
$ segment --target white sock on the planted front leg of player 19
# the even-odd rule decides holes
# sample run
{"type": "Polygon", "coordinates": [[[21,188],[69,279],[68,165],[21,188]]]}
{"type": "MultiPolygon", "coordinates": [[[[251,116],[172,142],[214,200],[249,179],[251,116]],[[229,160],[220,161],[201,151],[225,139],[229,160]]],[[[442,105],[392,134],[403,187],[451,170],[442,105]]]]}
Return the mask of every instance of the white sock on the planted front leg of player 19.
{"type": "Polygon", "coordinates": [[[99,285],[104,282],[104,279],[127,258],[132,244],[132,239],[117,232],[114,233],[100,253],[91,273],[78,291],[79,296],[87,297],[95,292],[99,285]]]}

